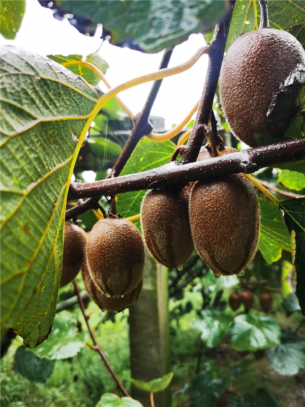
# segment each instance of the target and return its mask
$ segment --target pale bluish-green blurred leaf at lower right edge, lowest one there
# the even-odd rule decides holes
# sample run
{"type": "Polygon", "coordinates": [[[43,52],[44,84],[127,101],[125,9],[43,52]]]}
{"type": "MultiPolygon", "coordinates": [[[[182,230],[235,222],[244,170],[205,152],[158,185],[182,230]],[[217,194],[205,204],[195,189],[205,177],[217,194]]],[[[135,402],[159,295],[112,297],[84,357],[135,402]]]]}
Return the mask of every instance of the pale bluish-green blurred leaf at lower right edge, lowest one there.
{"type": "Polygon", "coordinates": [[[268,349],[266,356],[276,372],[290,376],[305,367],[305,342],[288,329],[282,331],[281,343],[268,349]]]}

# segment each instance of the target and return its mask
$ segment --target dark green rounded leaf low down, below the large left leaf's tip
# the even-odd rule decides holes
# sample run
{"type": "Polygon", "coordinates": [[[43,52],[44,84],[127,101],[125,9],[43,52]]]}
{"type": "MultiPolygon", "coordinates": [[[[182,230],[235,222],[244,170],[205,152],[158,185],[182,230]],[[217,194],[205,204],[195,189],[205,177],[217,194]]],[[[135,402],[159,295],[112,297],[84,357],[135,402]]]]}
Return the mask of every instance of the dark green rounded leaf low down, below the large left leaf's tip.
{"type": "Polygon", "coordinates": [[[40,358],[24,345],[15,353],[15,371],[33,382],[45,383],[53,372],[55,361],[40,358]]]}

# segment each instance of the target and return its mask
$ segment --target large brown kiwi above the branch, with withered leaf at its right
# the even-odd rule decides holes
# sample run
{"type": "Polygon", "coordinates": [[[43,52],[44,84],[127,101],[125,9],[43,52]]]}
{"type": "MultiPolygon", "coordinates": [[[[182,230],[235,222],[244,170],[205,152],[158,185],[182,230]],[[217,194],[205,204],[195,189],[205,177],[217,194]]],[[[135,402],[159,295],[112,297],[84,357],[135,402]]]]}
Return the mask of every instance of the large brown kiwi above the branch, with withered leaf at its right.
{"type": "Polygon", "coordinates": [[[283,30],[262,28],[241,34],[223,60],[219,94],[237,139],[251,147],[283,140],[299,113],[297,72],[305,51],[283,30]]]}

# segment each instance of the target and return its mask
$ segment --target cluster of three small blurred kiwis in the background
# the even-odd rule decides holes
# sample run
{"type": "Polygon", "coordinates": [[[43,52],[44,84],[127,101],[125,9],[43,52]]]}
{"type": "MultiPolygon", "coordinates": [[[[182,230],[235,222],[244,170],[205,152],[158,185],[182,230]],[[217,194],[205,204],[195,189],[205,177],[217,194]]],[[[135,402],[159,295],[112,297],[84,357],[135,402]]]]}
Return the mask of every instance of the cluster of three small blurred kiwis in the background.
{"type": "MultiPolygon", "coordinates": [[[[268,292],[261,292],[258,296],[260,308],[264,312],[270,311],[272,307],[273,297],[268,292]]],[[[240,294],[232,292],[229,296],[229,306],[233,311],[238,310],[240,305],[243,304],[247,309],[253,308],[254,295],[250,290],[241,291],[240,294]]]]}

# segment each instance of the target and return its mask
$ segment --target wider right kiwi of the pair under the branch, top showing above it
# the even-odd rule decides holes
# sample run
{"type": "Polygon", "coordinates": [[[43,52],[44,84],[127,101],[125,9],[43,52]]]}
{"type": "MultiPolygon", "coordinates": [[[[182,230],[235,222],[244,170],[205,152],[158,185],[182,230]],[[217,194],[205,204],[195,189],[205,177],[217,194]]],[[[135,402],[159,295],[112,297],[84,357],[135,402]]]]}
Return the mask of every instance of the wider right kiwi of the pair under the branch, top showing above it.
{"type": "MultiPolygon", "coordinates": [[[[200,157],[209,158],[208,150],[201,149],[200,157]]],[[[216,277],[240,273],[253,259],[259,236],[258,200],[250,181],[232,174],[194,183],[190,224],[195,248],[216,277]]]]}

